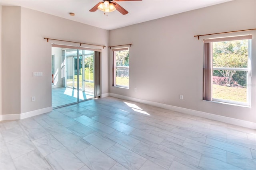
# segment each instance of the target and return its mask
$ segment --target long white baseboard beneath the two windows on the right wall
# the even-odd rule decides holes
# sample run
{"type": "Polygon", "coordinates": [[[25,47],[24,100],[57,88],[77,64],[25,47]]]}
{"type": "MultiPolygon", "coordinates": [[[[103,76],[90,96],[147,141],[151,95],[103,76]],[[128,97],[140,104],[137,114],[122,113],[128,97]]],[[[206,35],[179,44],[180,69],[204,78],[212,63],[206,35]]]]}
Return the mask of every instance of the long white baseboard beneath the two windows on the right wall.
{"type": "Polygon", "coordinates": [[[233,125],[247,127],[247,128],[250,128],[250,129],[256,129],[256,123],[250,122],[250,121],[244,121],[244,120],[235,119],[235,118],[232,118],[232,117],[215,115],[215,114],[212,114],[212,113],[206,113],[206,112],[202,112],[202,111],[196,111],[196,110],[192,110],[192,109],[186,109],[186,108],[182,108],[182,107],[171,106],[171,105],[167,105],[167,104],[161,104],[161,103],[151,102],[151,101],[147,101],[147,100],[141,100],[141,99],[137,99],[137,98],[131,98],[131,97],[122,96],[122,95],[119,95],[119,94],[109,93],[109,96],[124,99],[124,100],[130,100],[130,101],[133,101],[133,102],[139,102],[139,103],[142,103],[142,104],[148,104],[148,105],[151,105],[151,106],[161,107],[161,108],[169,109],[169,110],[173,110],[173,111],[178,111],[178,112],[186,113],[186,114],[189,114],[189,115],[204,117],[204,118],[207,118],[207,119],[221,121],[221,122],[224,122],[224,123],[230,123],[230,124],[233,124],[233,125]]]}

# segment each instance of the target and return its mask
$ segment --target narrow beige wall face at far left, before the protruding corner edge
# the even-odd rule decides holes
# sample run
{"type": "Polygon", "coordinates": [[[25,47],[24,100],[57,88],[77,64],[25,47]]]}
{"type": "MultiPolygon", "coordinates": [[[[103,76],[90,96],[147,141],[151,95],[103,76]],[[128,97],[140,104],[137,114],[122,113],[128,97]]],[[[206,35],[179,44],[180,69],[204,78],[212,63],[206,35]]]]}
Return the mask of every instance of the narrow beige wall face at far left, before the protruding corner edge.
{"type": "Polygon", "coordinates": [[[20,113],[20,7],[2,7],[2,114],[20,113]]]}

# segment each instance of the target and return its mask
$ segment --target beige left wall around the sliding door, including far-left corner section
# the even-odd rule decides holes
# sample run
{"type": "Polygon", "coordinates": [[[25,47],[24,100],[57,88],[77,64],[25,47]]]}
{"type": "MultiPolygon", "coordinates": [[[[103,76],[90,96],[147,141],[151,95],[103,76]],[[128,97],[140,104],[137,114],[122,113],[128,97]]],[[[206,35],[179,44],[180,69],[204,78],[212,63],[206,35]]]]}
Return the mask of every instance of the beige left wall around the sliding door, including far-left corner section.
{"type": "MultiPolygon", "coordinates": [[[[2,29],[2,98],[5,99],[2,114],[27,113],[52,106],[51,43],[44,37],[108,45],[107,30],[27,8],[2,8],[3,23],[10,23],[2,29]],[[43,76],[33,77],[33,72],[43,72],[43,76]],[[35,102],[31,101],[32,96],[36,97],[35,102]]],[[[102,50],[104,93],[108,93],[107,48],[102,50]]]]}

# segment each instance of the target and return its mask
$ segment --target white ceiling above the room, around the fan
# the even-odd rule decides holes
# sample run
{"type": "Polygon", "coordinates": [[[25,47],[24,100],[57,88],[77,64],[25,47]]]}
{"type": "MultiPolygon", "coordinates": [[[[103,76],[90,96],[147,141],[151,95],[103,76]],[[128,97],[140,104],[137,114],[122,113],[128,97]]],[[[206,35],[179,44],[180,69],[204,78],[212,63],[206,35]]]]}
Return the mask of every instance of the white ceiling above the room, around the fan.
{"type": "Polygon", "coordinates": [[[122,1],[118,2],[118,4],[129,12],[126,15],[122,15],[117,10],[109,13],[108,16],[104,15],[104,12],[100,10],[89,12],[100,1],[102,0],[0,0],[0,3],[7,6],[22,6],[111,30],[231,0],[122,1]],[[75,16],[70,16],[70,12],[75,13],[75,16]]]}

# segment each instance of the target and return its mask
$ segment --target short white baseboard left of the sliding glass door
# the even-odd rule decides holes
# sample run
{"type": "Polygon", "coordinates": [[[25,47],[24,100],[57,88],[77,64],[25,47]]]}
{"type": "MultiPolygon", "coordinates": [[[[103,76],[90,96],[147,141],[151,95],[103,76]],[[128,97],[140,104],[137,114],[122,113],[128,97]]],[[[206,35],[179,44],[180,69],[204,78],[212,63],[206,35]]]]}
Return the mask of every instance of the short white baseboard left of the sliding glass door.
{"type": "Polygon", "coordinates": [[[52,107],[46,107],[43,109],[33,110],[26,113],[20,113],[20,114],[8,114],[8,115],[0,115],[0,121],[2,120],[19,120],[19,119],[25,119],[28,117],[40,115],[43,113],[48,113],[52,111],[52,107]]]}

